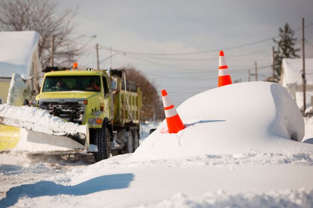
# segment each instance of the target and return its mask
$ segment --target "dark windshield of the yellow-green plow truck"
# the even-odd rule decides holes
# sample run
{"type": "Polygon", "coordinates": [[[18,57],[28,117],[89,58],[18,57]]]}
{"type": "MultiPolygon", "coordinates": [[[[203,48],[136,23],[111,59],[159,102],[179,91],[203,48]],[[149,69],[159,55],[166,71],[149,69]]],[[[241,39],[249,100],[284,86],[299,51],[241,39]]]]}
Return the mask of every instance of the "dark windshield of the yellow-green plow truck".
{"type": "Polygon", "coordinates": [[[46,76],[42,92],[100,90],[100,76],[46,76]]]}

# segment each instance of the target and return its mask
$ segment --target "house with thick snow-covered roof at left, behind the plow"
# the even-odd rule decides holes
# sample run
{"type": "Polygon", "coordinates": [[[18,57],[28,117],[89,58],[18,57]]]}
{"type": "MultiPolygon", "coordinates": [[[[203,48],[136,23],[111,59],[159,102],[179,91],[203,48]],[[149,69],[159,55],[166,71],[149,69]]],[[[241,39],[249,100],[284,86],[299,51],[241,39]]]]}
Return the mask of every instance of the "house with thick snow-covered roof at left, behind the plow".
{"type": "Polygon", "coordinates": [[[41,74],[38,41],[35,31],[0,32],[0,104],[7,102],[13,73],[29,80],[36,90],[41,74]]]}

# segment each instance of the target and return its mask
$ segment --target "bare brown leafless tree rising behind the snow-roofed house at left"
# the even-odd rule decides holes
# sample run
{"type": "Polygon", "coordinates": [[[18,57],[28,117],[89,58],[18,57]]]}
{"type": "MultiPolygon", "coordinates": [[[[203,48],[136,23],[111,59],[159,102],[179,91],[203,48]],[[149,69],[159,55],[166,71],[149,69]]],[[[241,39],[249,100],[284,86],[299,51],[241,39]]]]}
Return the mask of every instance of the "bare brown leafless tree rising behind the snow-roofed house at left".
{"type": "Polygon", "coordinates": [[[71,41],[76,10],[57,13],[57,7],[58,4],[47,0],[0,1],[1,31],[37,31],[40,34],[38,52],[42,67],[50,62],[52,34],[56,64],[69,65],[83,51],[71,41]]]}

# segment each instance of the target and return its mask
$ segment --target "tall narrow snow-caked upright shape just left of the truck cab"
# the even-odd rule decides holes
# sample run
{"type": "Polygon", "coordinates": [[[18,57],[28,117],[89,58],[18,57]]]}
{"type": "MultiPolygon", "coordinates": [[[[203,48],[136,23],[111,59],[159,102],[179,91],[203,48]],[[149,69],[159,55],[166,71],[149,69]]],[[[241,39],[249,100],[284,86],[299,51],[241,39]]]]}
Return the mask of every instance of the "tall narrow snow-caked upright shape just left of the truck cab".
{"type": "Polygon", "coordinates": [[[28,93],[27,89],[28,86],[23,81],[22,77],[18,74],[13,74],[10,83],[7,104],[15,106],[24,105],[24,99],[30,99],[30,94],[28,93]]]}

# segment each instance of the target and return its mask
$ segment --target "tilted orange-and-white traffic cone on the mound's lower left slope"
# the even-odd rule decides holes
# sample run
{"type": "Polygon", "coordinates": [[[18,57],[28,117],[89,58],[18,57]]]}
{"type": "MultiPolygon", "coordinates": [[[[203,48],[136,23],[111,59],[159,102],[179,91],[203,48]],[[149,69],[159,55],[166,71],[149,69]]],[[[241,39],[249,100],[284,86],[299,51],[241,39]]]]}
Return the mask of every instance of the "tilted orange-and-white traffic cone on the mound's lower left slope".
{"type": "Polygon", "coordinates": [[[162,90],[161,93],[162,93],[168,133],[177,133],[180,130],[185,129],[185,126],[181,118],[179,117],[172,101],[168,97],[166,90],[162,90]]]}

